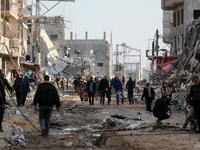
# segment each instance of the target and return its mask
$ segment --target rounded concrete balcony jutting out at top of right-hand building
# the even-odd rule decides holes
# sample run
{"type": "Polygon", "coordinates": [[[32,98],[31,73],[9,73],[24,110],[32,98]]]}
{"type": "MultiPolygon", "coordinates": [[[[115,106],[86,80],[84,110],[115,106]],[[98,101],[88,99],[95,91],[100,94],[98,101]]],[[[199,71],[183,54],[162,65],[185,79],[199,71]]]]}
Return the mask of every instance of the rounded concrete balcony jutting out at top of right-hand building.
{"type": "Polygon", "coordinates": [[[163,10],[173,10],[178,5],[184,3],[184,0],[161,0],[161,7],[163,10]]]}

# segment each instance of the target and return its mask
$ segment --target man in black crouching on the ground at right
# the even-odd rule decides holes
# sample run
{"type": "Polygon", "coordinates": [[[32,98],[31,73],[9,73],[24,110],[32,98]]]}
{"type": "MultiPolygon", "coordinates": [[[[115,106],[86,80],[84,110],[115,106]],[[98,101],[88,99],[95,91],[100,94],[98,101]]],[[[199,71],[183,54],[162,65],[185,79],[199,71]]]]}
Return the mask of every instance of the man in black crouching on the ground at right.
{"type": "Polygon", "coordinates": [[[167,97],[163,96],[162,99],[158,99],[153,108],[153,115],[157,119],[157,124],[161,125],[161,120],[168,119],[169,115],[167,114],[170,106],[166,105],[167,97]]]}

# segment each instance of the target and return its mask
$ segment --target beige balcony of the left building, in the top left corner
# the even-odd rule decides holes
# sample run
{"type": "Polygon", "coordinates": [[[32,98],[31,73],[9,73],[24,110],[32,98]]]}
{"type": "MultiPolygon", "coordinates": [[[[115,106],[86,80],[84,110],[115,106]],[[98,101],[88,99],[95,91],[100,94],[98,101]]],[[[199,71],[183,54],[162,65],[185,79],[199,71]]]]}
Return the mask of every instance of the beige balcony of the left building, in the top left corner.
{"type": "Polygon", "coordinates": [[[1,15],[7,19],[18,19],[19,4],[17,0],[1,0],[1,15]]]}

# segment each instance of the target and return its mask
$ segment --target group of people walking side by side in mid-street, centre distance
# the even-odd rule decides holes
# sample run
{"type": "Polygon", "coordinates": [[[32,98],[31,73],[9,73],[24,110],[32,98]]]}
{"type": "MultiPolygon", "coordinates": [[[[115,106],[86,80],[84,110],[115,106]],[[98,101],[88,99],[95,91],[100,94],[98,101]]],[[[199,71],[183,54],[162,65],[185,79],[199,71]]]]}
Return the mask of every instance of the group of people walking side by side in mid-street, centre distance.
{"type": "MultiPolygon", "coordinates": [[[[84,102],[84,96],[87,95],[89,99],[89,104],[94,105],[94,99],[100,99],[100,104],[104,105],[107,98],[108,105],[111,102],[112,88],[116,93],[116,102],[119,105],[119,100],[121,99],[122,104],[124,103],[124,94],[123,87],[125,78],[122,80],[119,77],[115,77],[111,80],[107,79],[107,76],[104,76],[102,79],[90,77],[90,80],[84,82],[83,80],[76,79],[74,81],[75,92],[79,95],[82,102],[84,102]]],[[[129,81],[126,83],[125,88],[128,90],[129,104],[134,104],[133,101],[133,89],[135,88],[135,80],[133,81],[129,78],[129,81]]],[[[87,99],[86,99],[87,100],[87,99]]]]}

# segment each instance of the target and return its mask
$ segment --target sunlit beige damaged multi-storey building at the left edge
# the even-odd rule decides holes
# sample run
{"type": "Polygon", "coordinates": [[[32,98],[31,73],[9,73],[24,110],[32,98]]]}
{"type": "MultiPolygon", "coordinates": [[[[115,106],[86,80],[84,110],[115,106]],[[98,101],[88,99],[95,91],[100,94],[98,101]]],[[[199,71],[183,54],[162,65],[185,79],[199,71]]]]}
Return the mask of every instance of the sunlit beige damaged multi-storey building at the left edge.
{"type": "Polygon", "coordinates": [[[0,69],[5,69],[7,78],[12,80],[27,52],[27,24],[20,11],[27,2],[1,0],[0,5],[0,69]]]}

